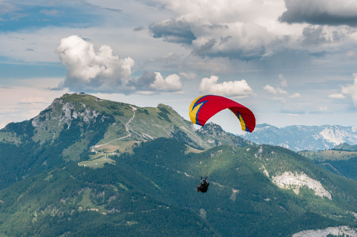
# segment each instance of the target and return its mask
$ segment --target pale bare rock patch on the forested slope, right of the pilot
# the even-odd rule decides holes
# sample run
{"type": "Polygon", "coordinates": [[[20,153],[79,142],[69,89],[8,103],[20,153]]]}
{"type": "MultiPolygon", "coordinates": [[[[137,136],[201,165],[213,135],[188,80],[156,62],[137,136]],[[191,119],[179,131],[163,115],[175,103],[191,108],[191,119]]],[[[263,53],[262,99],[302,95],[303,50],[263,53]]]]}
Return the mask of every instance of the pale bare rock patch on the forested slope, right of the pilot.
{"type": "Polygon", "coordinates": [[[316,195],[332,199],[331,194],[322,187],[319,181],[311,179],[304,173],[285,172],[282,175],[273,177],[273,182],[281,188],[293,189],[296,194],[299,193],[300,187],[308,187],[314,190],[316,195]]]}

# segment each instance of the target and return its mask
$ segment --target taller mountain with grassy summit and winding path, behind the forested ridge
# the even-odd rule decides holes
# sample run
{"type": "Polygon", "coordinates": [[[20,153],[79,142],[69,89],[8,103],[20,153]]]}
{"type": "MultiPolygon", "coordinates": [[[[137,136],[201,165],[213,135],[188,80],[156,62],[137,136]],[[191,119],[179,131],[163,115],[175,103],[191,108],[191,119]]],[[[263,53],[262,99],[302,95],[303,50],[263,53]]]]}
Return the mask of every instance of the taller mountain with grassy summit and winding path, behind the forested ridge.
{"type": "Polygon", "coordinates": [[[196,130],[163,104],[140,108],[84,93],[65,94],[33,119],[0,130],[0,189],[55,166],[132,152],[141,141],[173,134],[198,150],[252,144],[213,124],[196,130]]]}

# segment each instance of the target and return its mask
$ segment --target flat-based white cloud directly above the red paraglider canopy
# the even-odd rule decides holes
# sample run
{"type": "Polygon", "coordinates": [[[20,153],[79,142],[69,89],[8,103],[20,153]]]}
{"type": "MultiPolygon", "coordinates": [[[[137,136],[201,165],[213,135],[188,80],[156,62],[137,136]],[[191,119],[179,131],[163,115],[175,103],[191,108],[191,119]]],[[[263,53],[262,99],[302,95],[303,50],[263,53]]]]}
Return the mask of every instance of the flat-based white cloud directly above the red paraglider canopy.
{"type": "Polygon", "coordinates": [[[218,82],[218,76],[203,78],[199,84],[199,92],[220,96],[248,97],[252,90],[245,80],[218,82]]]}

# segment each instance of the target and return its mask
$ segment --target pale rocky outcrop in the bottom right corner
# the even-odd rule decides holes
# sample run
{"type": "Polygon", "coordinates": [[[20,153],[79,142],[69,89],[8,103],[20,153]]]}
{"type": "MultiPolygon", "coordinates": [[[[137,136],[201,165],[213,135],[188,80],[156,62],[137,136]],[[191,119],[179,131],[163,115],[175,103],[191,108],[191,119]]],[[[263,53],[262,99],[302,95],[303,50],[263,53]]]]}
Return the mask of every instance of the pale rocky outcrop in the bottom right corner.
{"type": "Polygon", "coordinates": [[[343,236],[344,234],[345,236],[357,237],[357,230],[348,226],[328,227],[326,229],[303,230],[293,234],[292,237],[326,237],[328,234],[333,234],[334,236],[343,236]]]}

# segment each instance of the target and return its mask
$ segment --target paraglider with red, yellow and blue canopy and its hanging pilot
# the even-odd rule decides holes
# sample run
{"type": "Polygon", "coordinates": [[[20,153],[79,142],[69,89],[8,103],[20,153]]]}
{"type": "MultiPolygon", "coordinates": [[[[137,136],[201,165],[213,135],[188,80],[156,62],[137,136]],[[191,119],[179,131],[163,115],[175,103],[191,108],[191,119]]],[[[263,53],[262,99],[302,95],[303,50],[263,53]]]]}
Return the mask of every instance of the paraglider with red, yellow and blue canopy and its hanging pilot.
{"type": "MultiPolygon", "coordinates": [[[[206,95],[200,96],[192,101],[189,110],[191,122],[203,127],[213,115],[223,109],[229,109],[236,115],[243,131],[253,132],[254,128],[256,127],[256,117],[250,111],[250,109],[222,96],[206,95]]],[[[209,163],[206,165],[208,174],[204,180],[202,180],[202,173],[203,169],[205,168],[201,168],[201,183],[200,185],[197,185],[196,192],[207,192],[209,186],[209,183],[207,182],[208,176],[213,172],[213,170],[216,169],[224,157],[225,154],[221,155],[220,161],[218,161],[218,163],[210,169],[209,166],[212,161],[211,157],[209,163]]],[[[200,164],[201,163],[202,162],[200,162],[200,164]]]]}

